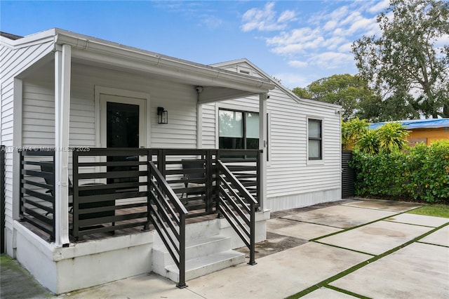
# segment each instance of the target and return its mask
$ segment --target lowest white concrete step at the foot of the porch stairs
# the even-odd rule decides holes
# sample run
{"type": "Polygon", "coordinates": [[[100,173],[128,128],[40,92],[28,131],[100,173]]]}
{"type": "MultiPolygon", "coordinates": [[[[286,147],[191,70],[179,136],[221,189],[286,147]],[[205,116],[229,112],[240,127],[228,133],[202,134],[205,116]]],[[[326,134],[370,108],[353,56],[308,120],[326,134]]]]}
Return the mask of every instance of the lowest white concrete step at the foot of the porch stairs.
{"type": "MultiPolygon", "coordinates": [[[[221,251],[219,253],[186,260],[185,280],[188,281],[244,262],[245,254],[233,250],[221,251]]],[[[180,272],[176,265],[168,265],[166,267],[166,274],[163,276],[177,282],[180,279],[180,272]]]]}

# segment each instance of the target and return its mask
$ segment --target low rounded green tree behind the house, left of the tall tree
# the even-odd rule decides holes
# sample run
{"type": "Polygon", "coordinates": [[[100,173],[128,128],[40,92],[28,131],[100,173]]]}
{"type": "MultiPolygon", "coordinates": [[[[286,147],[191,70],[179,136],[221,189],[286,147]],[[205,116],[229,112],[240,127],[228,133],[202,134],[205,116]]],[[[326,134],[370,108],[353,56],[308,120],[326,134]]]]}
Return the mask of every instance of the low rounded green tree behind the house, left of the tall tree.
{"type": "MultiPolygon", "coordinates": [[[[322,78],[312,82],[307,88],[294,88],[293,93],[302,98],[313,98],[341,105],[344,121],[354,118],[357,113],[360,113],[358,110],[361,102],[375,98],[366,81],[351,74],[335,74],[322,78]]],[[[363,118],[370,119],[366,115],[363,115],[363,118]]]]}

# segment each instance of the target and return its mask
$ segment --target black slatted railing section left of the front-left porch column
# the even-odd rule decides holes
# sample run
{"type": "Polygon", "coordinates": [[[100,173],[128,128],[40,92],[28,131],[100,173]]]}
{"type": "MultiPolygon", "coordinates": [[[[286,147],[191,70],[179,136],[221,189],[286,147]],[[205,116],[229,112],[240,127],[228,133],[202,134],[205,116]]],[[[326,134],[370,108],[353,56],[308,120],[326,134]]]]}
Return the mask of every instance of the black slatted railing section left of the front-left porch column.
{"type": "Polygon", "coordinates": [[[20,219],[31,223],[55,240],[55,152],[20,151],[20,219]]]}

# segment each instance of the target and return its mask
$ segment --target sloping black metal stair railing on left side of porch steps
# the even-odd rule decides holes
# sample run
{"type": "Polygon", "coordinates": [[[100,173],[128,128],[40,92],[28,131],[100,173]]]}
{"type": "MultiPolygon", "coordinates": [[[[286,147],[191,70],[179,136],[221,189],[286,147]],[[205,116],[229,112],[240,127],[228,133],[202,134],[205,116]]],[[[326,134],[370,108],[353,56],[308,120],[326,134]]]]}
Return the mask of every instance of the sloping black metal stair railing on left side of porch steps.
{"type": "Polygon", "coordinates": [[[152,161],[148,162],[148,211],[154,228],[180,270],[178,288],[185,288],[185,218],[187,210],[152,161]]]}

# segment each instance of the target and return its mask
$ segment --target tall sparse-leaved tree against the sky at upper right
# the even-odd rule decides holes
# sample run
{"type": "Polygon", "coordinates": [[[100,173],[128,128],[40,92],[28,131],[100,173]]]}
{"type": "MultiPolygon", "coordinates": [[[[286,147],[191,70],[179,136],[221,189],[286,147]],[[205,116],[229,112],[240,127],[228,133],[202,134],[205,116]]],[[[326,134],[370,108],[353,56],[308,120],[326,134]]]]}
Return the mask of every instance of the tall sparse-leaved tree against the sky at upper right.
{"type": "Polygon", "coordinates": [[[352,45],[359,74],[382,102],[385,118],[449,117],[449,2],[391,0],[377,15],[382,36],[363,36],[352,45]],[[393,115],[389,115],[393,114],[393,115]]]}

